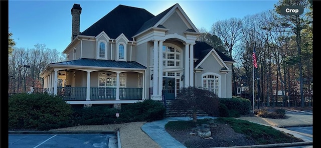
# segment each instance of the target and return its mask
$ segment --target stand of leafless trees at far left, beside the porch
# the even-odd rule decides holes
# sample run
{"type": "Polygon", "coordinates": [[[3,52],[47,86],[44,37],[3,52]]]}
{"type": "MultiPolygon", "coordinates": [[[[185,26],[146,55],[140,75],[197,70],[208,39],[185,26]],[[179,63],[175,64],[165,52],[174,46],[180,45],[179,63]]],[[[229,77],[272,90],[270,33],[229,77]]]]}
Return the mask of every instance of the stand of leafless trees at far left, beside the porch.
{"type": "Polygon", "coordinates": [[[40,73],[50,63],[65,61],[65,55],[45,44],[36,44],[33,49],[13,47],[8,61],[9,93],[20,93],[30,86],[42,87],[40,73]]]}

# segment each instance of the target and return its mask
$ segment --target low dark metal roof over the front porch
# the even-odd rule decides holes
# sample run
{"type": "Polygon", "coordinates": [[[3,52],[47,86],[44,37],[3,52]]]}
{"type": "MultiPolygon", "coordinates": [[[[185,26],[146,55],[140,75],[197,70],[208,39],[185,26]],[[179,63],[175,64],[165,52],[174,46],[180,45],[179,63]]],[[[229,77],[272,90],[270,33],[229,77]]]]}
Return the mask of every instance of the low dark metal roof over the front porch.
{"type": "Polygon", "coordinates": [[[93,66],[93,67],[112,67],[112,68],[137,68],[146,69],[145,66],[131,61],[115,61],[115,60],[96,60],[96,59],[86,59],[82,58],[79,60],[64,61],[58,63],[51,63],[55,65],[73,65],[73,66],[93,66]]]}

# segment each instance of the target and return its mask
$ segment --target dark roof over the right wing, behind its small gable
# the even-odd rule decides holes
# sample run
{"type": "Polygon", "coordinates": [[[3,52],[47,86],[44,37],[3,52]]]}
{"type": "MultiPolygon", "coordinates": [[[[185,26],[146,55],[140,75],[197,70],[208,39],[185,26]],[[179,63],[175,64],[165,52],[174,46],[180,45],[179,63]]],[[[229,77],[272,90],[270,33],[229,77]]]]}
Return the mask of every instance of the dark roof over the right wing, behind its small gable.
{"type": "MultiPolygon", "coordinates": [[[[197,66],[204,58],[205,56],[212,50],[212,46],[208,45],[205,42],[195,41],[194,45],[194,58],[199,59],[194,63],[194,66],[197,66]]],[[[214,49],[217,54],[220,56],[220,58],[223,61],[228,62],[235,62],[233,59],[229,58],[228,56],[224,55],[220,51],[214,49]]]]}

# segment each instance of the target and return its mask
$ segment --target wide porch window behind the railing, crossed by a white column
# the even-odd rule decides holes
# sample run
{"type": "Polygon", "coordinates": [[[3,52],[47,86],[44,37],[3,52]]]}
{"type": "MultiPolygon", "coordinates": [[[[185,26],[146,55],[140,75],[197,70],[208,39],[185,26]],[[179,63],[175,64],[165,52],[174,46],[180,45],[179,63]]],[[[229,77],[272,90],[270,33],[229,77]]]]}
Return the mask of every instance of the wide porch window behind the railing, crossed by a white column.
{"type": "MultiPolygon", "coordinates": [[[[115,73],[100,72],[98,76],[99,87],[116,87],[117,75],[115,73]]],[[[126,73],[119,74],[120,87],[126,87],[126,73]]]]}

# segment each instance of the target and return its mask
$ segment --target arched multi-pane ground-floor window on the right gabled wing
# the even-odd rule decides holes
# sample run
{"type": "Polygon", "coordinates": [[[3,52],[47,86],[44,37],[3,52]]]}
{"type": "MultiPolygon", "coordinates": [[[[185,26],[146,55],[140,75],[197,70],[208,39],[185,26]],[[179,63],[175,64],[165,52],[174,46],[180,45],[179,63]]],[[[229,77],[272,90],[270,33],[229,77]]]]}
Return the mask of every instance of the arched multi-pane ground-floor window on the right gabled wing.
{"type": "Polygon", "coordinates": [[[219,77],[216,75],[203,76],[203,88],[218,95],[219,93],[219,77]]]}

